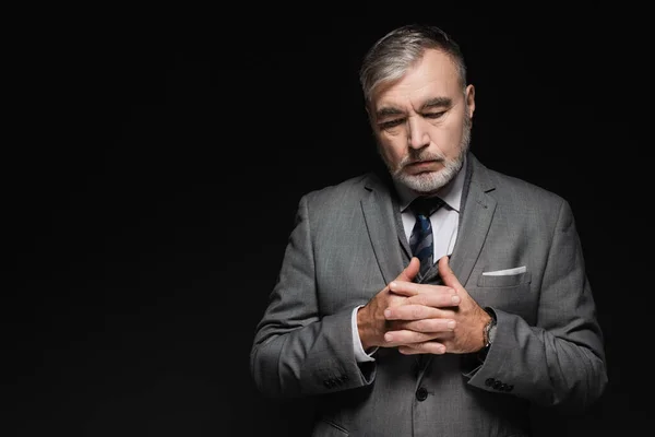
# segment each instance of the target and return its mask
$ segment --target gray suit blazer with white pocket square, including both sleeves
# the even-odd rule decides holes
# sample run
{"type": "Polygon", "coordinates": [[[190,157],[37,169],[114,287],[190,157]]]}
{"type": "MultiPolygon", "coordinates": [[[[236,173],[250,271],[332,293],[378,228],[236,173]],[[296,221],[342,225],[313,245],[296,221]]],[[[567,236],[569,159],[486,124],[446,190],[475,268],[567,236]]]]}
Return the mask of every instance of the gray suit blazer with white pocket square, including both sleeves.
{"type": "Polygon", "coordinates": [[[409,260],[395,194],[369,174],[301,198],[251,371],[266,395],[318,402],[313,436],[528,436],[531,405],[579,412],[603,394],[603,334],[570,205],[471,153],[467,163],[450,264],[496,311],[484,364],[395,349],[358,364],[353,309],[409,260]]]}

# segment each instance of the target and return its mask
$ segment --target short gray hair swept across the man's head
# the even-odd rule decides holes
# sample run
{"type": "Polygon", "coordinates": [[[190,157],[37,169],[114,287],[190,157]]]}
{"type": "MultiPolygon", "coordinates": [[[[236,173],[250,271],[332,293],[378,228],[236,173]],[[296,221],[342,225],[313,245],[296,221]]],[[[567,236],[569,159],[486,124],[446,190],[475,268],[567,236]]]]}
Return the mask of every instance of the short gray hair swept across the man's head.
{"type": "Polygon", "coordinates": [[[466,86],[466,64],[457,43],[439,27],[408,24],[378,39],[364,57],[359,82],[366,105],[371,103],[373,92],[380,84],[401,79],[427,49],[449,55],[458,70],[462,86],[466,86]]]}

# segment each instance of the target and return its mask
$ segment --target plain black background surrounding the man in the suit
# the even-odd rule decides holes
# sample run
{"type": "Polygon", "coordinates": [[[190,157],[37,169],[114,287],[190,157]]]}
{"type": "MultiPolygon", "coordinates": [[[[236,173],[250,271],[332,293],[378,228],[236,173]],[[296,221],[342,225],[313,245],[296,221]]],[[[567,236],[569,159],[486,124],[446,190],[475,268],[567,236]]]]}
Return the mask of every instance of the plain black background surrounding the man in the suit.
{"type": "Polygon", "coordinates": [[[474,153],[564,196],[577,220],[610,387],[545,426],[648,426],[645,12],[368,8],[20,16],[4,56],[3,428],[302,435],[306,403],[252,386],[254,327],[300,196],[377,160],[357,69],[412,21],[463,46],[474,153]]]}

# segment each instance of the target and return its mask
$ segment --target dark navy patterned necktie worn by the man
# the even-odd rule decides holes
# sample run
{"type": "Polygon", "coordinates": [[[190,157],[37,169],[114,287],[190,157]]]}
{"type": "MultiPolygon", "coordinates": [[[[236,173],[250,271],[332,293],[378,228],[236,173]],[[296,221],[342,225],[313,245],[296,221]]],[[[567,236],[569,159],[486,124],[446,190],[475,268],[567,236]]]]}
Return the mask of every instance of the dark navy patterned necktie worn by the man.
{"type": "Polygon", "coordinates": [[[412,256],[420,261],[420,277],[426,275],[426,272],[432,267],[434,244],[432,239],[432,225],[430,224],[430,215],[443,205],[443,201],[434,198],[416,198],[409,208],[416,215],[416,224],[412,229],[409,237],[409,249],[412,256]]]}

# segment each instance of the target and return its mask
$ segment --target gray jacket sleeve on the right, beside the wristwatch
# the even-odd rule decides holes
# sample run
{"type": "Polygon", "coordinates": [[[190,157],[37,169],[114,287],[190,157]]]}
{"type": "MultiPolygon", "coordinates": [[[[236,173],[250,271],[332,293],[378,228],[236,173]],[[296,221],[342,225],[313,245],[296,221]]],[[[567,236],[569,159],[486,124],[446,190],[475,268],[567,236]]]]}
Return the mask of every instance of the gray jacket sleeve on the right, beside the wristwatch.
{"type": "Polygon", "coordinates": [[[536,326],[493,308],[496,340],[469,383],[541,406],[584,411],[607,386],[604,340],[570,205],[563,201],[540,284],[536,326]]]}

